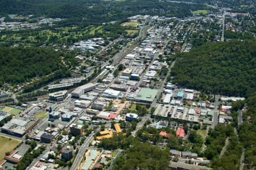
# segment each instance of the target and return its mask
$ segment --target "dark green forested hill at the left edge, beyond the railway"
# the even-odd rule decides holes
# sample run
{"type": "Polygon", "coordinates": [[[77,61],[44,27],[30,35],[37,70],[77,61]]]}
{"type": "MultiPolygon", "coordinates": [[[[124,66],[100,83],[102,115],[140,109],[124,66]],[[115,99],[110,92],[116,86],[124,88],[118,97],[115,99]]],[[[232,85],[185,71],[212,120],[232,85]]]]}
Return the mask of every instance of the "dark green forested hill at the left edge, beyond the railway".
{"type": "Polygon", "coordinates": [[[55,72],[63,52],[46,48],[0,48],[0,85],[19,84],[55,72]]]}

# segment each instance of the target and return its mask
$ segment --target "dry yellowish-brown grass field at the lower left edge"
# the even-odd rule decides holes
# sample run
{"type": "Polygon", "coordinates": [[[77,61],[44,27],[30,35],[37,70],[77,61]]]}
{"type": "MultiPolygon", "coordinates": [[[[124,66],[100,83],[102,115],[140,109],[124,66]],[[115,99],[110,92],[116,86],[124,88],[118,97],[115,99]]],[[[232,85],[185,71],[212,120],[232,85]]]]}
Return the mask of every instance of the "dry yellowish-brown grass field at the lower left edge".
{"type": "Polygon", "coordinates": [[[0,161],[3,160],[6,152],[12,152],[16,146],[20,143],[19,140],[6,138],[0,136],[0,161]]]}

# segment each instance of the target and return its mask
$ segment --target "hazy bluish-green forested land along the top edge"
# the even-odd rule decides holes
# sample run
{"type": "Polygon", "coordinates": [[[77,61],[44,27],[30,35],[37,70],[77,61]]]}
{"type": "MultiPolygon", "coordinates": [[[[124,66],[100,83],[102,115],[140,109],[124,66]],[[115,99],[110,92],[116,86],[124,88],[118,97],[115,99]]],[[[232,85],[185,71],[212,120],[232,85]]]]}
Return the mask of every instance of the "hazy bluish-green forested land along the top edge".
{"type": "Polygon", "coordinates": [[[90,22],[118,20],[137,14],[189,16],[191,10],[205,9],[204,5],[186,3],[146,1],[41,1],[41,0],[0,0],[0,15],[46,15],[55,18],[86,18],[90,22]],[[33,9],[33,10],[32,10],[33,9]]]}

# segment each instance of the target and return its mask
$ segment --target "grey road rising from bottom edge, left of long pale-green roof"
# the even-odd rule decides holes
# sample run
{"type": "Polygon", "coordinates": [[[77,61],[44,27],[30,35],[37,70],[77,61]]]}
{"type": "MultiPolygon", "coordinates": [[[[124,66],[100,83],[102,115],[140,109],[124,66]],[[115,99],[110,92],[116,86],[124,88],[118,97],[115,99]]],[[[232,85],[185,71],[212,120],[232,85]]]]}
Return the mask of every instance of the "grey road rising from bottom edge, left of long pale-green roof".
{"type": "Polygon", "coordinates": [[[86,138],[86,140],[84,141],[84,143],[81,145],[79,152],[76,155],[75,160],[73,161],[72,167],[70,168],[71,170],[76,170],[76,168],[79,166],[79,164],[81,163],[82,157],[84,157],[85,154],[85,150],[86,148],[88,148],[90,142],[93,139],[93,135],[94,132],[92,132],[88,138],[86,138]]]}

